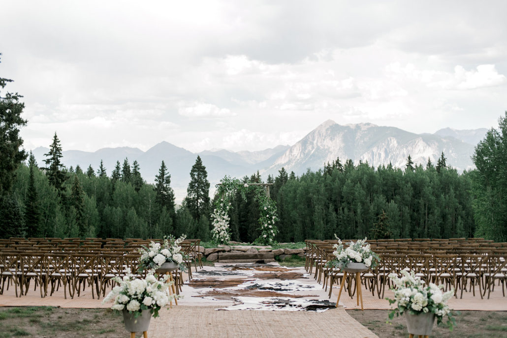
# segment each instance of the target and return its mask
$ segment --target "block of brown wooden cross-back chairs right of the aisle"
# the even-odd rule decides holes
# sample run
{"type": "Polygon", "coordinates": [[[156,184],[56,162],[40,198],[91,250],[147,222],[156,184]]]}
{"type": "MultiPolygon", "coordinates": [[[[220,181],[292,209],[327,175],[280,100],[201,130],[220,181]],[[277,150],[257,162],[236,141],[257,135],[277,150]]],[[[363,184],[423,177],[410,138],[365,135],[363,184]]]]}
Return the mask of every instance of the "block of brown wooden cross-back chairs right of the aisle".
{"type": "MultiPolygon", "coordinates": [[[[332,242],[332,241],[331,241],[332,242]]],[[[330,288],[330,297],[333,284],[341,282],[343,272],[337,271],[332,267],[327,267],[326,263],[334,258],[333,245],[330,241],[312,241],[307,240],[305,268],[308,272],[314,273],[315,279],[323,283],[323,288],[330,288]],[[315,271],[313,272],[313,268],[315,271]]],[[[463,291],[473,291],[475,296],[475,287],[479,287],[481,298],[488,292],[494,290],[494,282],[501,285],[502,294],[505,295],[507,287],[507,267],[506,252],[470,253],[454,252],[446,254],[442,252],[422,253],[415,251],[379,252],[380,264],[369,271],[361,274],[361,280],[365,286],[370,289],[372,294],[377,292],[379,298],[384,297],[385,288],[389,287],[390,273],[400,273],[402,270],[414,270],[418,276],[427,282],[443,284],[446,289],[453,287],[457,292],[460,290],[460,297],[463,291]]],[[[347,281],[349,294],[353,295],[352,287],[355,285],[352,281],[347,281]]],[[[455,293],[457,296],[457,293],[455,293]]]]}

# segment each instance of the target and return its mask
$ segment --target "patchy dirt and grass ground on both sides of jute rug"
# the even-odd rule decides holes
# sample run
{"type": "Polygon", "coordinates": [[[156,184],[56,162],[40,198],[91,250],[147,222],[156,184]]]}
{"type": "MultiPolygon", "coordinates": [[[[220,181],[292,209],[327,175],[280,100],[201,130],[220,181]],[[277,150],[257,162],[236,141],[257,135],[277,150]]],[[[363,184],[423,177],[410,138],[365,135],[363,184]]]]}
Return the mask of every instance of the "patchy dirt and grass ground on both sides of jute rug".
{"type": "MultiPolygon", "coordinates": [[[[386,323],[387,310],[349,310],[361,324],[380,338],[407,337],[405,318],[386,323]]],[[[433,327],[432,338],[507,338],[507,312],[461,311],[457,326],[450,332],[445,326],[433,327]]],[[[127,337],[121,314],[109,309],[63,309],[53,307],[0,308],[0,338],[117,338],[127,337]]],[[[138,333],[137,337],[142,336],[138,333]]]]}

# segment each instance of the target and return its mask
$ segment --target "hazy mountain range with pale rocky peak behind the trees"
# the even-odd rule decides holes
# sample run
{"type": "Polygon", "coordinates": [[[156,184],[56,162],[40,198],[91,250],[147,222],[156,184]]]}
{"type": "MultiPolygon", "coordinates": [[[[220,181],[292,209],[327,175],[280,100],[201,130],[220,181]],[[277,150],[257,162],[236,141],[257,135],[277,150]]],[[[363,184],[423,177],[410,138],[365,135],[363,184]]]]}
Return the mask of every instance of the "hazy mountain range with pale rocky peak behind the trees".
{"type": "MultiPolygon", "coordinates": [[[[153,183],[164,160],[171,175],[176,200],[182,200],[197,155],[201,156],[206,166],[212,187],[225,175],[241,178],[259,171],[266,179],[270,174],[276,176],[281,167],[289,173],[294,171],[296,175],[301,175],[308,168],[316,171],[325,162],[332,162],[337,157],[342,163],[350,158],[355,163],[361,160],[378,166],[390,162],[396,167],[404,167],[408,155],[416,164],[426,164],[428,158],[436,163],[444,152],[447,163],[463,171],[474,167],[471,159],[474,147],[486,132],[486,129],[446,128],[434,134],[414,134],[372,123],[340,125],[327,120],[292,146],[278,145],[261,151],[214,149],[193,153],[163,141],[147,151],[131,147],[102,148],[95,152],[66,150],[63,151],[62,163],[66,167],[79,164],[83,171],[91,164],[96,171],[102,160],[107,174],[111,175],[116,161],[123,164],[124,159],[128,158],[131,165],[137,160],[142,177],[153,183]]],[[[32,150],[40,165],[44,164],[44,154],[48,151],[45,147],[32,150]]]]}

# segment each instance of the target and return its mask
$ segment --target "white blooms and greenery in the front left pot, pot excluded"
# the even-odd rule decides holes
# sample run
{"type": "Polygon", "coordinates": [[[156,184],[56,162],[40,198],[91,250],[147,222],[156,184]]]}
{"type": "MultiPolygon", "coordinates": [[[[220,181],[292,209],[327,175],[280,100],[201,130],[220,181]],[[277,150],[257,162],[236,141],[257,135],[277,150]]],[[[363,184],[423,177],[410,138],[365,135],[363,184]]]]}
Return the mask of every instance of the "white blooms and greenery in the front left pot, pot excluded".
{"type": "Polygon", "coordinates": [[[122,278],[115,277],[118,283],[104,298],[102,303],[113,302],[111,309],[117,311],[127,310],[135,313],[135,316],[142,311],[150,311],[153,317],[158,317],[158,312],[179,295],[170,294],[169,287],[173,282],[167,282],[169,275],[164,275],[158,280],[153,271],[149,272],[146,279],[135,278],[127,268],[127,274],[122,278]]]}

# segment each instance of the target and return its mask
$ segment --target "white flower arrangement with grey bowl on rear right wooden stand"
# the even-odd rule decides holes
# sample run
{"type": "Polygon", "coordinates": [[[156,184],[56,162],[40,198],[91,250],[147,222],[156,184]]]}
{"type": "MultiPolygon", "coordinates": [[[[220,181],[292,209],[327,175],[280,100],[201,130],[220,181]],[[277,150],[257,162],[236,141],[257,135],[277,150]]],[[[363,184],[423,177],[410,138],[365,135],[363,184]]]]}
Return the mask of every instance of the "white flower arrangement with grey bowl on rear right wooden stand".
{"type": "Polygon", "coordinates": [[[359,239],[355,243],[350,241],[347,247],[340,238],[336,238],[338,244],[333,245],[335,258],[328,262],[328,266],[332,265],[347,272],[361,272],[374,268],[380,261],[377,254],[371,250],[370,244],[366,243],[366,238],[359,239]]]}

